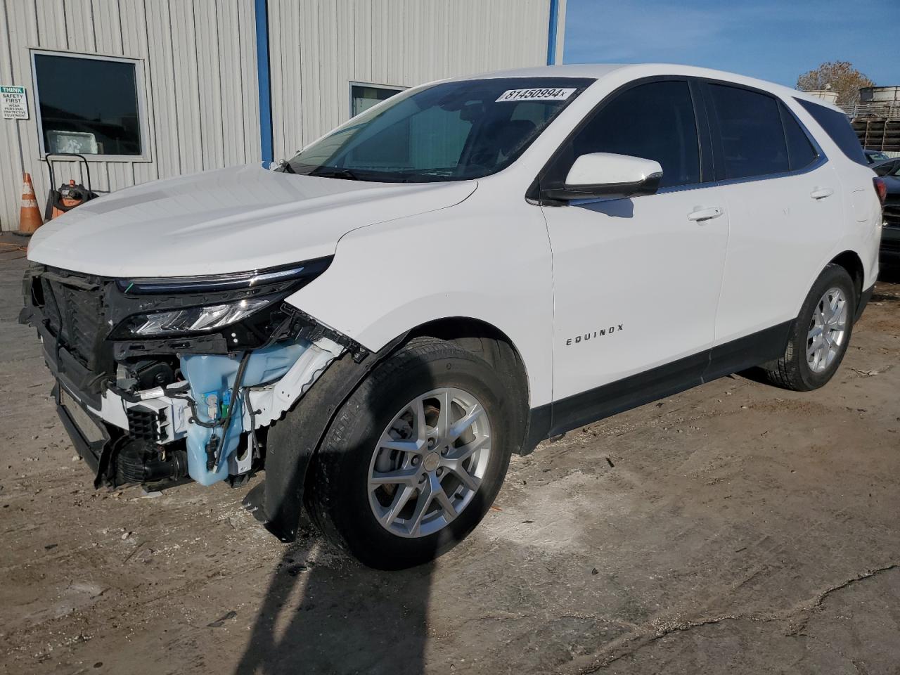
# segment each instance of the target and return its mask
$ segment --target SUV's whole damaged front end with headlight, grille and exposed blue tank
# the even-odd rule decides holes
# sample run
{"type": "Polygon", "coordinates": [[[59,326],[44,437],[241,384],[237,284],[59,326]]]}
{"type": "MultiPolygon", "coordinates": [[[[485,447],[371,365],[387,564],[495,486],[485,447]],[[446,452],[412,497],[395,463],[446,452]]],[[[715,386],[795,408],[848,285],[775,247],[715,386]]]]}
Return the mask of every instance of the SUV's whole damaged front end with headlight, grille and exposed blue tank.
{"type": "Polygon", "coordinates": [[[284,302],[330,260],[177,279],[31,266],[20,321],[95,487],[234,484],[260,466],[269,426],[343,352],[365,356],[284,302]]]}

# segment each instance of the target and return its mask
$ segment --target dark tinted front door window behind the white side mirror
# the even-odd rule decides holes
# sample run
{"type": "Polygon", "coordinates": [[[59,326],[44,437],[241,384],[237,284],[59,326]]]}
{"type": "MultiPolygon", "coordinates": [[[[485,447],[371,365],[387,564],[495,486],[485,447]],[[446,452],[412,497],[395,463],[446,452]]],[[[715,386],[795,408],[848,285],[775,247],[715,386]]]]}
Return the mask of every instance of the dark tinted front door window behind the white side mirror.
{"type": "Polygon", "coordinates": [[[563,176],[581,155],[614,152],[658,161],[661,187],[699,183],[697,121],[688,83],[651,82],[618,94],[563,152],[563,176]]]}

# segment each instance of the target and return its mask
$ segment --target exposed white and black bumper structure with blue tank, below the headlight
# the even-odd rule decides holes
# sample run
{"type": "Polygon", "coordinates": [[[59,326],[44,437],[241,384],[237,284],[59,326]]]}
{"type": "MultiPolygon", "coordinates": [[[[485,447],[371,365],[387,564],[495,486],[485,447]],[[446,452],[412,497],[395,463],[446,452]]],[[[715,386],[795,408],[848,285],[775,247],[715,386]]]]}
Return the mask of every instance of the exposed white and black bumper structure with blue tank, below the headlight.
{"type": "Polygon", "coordinates": [[[248,363],[257,367],[247,369],[249,376],[245,376],[244,386],[239,389],[238,400],[231,403],[237,408],[221,440],[219,459],[211,468],[207,453],[210,438],[216,433],[223,436],[223,429],[210,428],[215,417],[198,402],[209,391],[210,382],[219,383],[221,392],[230,391],[235,359],[184,356],[184,381],[133,394],[108,383],[99,401],[73,386],[72,378],[60,369],[57,360],[49,357],[49,352],[47,363],[57,377],[53,395],[59,419],[78,455],[94,471],[94,487],[116,484],[112,466],[116,448],[134,440],[162,448],[183,442],[188,474],[194,481],[209,485],[248,473],[257,459],[254,435],[248,432],[280,419],[343,352],[344,347],[333,340],[319,338],[251,353],[248,363]],[[249,401],[252,412],[244,401],[249,401]],[[198,424],[194,414],[206,424],[198,424]]]}

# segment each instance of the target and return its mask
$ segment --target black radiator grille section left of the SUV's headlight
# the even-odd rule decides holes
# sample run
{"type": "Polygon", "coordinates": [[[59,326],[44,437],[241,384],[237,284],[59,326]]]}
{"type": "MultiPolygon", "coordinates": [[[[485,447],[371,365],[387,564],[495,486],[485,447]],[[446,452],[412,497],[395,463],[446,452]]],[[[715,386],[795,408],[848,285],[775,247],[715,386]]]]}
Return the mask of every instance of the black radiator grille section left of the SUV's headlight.
{"type": "Polygon", "coordinates": [[[103,340],[109,334],[103,286],[71,275],[40,275],[38,281],[50,332],[82,365],[102,372],[103,340]]]}

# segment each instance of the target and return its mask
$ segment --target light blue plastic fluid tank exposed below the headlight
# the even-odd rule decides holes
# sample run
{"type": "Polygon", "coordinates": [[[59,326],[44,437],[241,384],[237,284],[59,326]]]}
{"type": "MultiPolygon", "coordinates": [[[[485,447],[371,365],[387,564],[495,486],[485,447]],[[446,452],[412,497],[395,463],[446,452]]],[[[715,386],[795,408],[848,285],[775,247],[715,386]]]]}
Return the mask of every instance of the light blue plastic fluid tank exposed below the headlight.
{"type": "MultiPolygon", "coordinates": [[[[266,347],[257,349],[250,354],[247,360],[247,368],[241,386],[253,386],[277,380],[283,376],[297,361],[298,358],[309,349],[310,343],[306,340],[287,346],[266,347]]],[[[230,392],[234,386],[234,379],[238,374],[238,367],[243,354],[231,356],[217,356],[207,354],[191,354],[181,357],[181,372],[191,385],[191,398],[197,403],[197,414],[204,422],[210,422],[210,410],[204,400],[204,395],[210,392],[218,394],[218,401],[225,401],[225,392],[230,392]]],[[[240,434],[243,428],[243,396],[238,396],[237,401],[230,401],[234,407],[231,414],[231,423],[225,441],[221,443],[219,468],[208,471],[206,469],[206,446],[212,433],[220,439],[222,428],[205,428],[199,424],[190,424],[187,428],[187,473],[194,481],[201,485],[211,485],[222,481],[228,476],[228,458],[238,447],[240,434]]],[[[219,407],[220,419],[222,417],[219,407]]]]}

